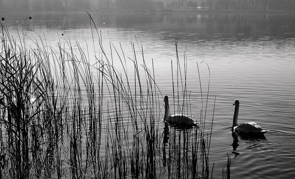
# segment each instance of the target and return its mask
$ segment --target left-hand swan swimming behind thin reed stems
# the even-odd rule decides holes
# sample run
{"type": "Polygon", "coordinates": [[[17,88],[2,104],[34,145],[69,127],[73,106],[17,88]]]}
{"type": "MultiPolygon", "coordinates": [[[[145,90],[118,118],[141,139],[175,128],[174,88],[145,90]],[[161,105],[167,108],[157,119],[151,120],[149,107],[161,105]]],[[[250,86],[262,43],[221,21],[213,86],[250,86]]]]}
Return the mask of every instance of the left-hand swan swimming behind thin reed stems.
{"type": "Polygon", "coordinates": [[[183,114],[170,115],[169,102],[168,102],[167,95],[165,95],[164,97],[164,102],[165,102],[164,120],[167,121],[169,124],[184,124],[184,125],[190,125],[190,126],[197,124],[193,119],[191,119],[191,117],[188,117],[187,115],[183,115],[183,114]]]}

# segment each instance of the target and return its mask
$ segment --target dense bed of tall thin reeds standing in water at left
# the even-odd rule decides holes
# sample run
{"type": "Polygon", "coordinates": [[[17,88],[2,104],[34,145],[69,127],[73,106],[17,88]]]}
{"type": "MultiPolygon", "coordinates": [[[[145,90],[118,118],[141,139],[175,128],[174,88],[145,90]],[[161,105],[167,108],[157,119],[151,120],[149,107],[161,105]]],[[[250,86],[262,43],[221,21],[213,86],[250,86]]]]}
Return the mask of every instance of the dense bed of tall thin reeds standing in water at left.
{"type": "MultiPolygon", "coordinates": [[[[0,178],[212,178],[211,132],[205,129],[213,124],[206,119],[209,86],[202,92],[199,126],[168,125],[162,120],[165,94],[143,49],[132,44],[129,58],[110,43],[107,57],[93,29],[99,57],[90,57],[79,42],[52,48],[45,37],[30,39],[24,32],[15,39],[2,26],[0,178]]],[[[173,105],[189,115],[180,59],[172,74],[173,105]]],[[[229,178],[230,158],[223,170],[229,178]]]]}

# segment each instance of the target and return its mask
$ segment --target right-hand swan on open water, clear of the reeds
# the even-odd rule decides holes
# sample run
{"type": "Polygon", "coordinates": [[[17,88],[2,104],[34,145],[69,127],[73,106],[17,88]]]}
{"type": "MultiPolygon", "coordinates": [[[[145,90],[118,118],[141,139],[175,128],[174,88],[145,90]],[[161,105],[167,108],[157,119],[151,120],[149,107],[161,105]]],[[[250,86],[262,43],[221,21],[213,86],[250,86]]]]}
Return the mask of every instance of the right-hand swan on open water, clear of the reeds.
{"type": "Polygon", "coordinates": [[[237,120],[238,120],[239,106],[240,106],[239,100],[235,100],[233,105],[235,105],[234,116],[232,119],[232,129],[234,131],[241,132],[241,133],[252,133],[252,134],[263,134],[269,131],[269,130],[263,130],[255,122],[245,122],[238,125],[237,120]]]}

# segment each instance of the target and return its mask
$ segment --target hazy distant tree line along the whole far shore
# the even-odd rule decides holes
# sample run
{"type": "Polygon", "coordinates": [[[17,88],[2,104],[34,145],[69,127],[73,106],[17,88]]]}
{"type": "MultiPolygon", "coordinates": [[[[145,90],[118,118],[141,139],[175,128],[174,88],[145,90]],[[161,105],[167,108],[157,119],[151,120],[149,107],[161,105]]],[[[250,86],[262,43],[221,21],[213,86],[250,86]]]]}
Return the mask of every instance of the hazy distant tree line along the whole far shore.
{"type": "MultiPolygon", "coordinates": [[[[209,10],[295,10],[295,0],[202,0],[201,9],[209,10]]],[[[2,10],[84,11],[117,10],[197,10],[196,1],[173,0],[164,5],[155,0],[0,0],[2,10]]]]}

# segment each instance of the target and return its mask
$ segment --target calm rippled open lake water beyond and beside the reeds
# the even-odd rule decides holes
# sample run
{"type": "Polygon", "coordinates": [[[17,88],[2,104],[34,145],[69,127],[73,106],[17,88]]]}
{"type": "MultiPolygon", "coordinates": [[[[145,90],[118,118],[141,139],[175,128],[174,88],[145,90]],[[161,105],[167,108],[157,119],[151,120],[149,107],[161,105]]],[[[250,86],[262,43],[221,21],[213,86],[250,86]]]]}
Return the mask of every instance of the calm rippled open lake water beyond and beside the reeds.
{"type": "MultiPolygon", "coordinates": [[[[39,34],[42,39],[45,35],[51,47],[78,41],[83,49],[88,47],[90,57],[101,56],[93,49],[87,13],[0,15],[14,38],[17,29],[31,38],[27,44],[34,46],[39,34]],[[28,16],[32,20],[24,21],[28,16]]],[[[204,95],[209,71],[202,61],[208,64],[208,119],[212,119],[216,97],[209,155],[214,162],[213,178],[222,176],[227,155],[232,158],[231,178],[295,176],[295,13],[92,13],[91,17],[107,54],[111,53],[109,42],[116,49],[122,47],[131,59],[132,43],[139,56],[142,46],[150,69],[153,59],[161,94],[171,98],[171,61],[176,71],[177,43],[180,63],[186,59],[187,89],[196,119],[201,110],[198,67],[204,95]],[[235,99],[240,101],[238,123],[253,121],[270,131],[252,138],[233,133],[235,99]]],[[[97,44],[98,36],[94,39],[97,44]]],[[[95,63],[95,58],[91,60],[95,63]]],[[[159,125],[163,129],[164,124],[159,125]]]]}

